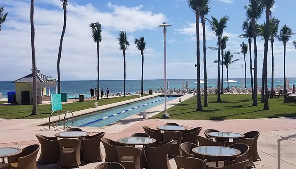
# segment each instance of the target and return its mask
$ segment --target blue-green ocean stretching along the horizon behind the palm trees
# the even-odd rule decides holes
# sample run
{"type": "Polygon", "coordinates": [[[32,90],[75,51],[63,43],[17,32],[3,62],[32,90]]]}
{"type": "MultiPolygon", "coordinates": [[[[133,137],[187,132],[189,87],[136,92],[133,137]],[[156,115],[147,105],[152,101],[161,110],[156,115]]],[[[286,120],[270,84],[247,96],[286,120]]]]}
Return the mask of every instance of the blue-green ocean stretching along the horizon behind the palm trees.
{"type": "MultiPolygon", "coordinates": [[[[290,81],[290,86],[296,83],[296,78],[287,78],[290,81]]],[[[203,80],[203,79],[201,79],[203,80]]],[[[230,80],[230,79],[229,79],[230,80]]],[[[229,87],[238,86],[242,87],[242,79],[241,78],[231,78],[231,80],[237,81],[237,83],[229,83],[229,87]]],[[[182,88],[183,81],[186,85],[186,81],[188,81],[189,88],[197,88],[197,83],[194,83],[196,79],[168,79],[169,88],[182,88]]],[[[223,81],[227,81],[226,78],[223,81]]],[[[257,82],[259,81],[259,78],[257,82]]],[[[152,89],[156,91],[158,88],[164,86],[164,80],[144,80],[144,91],[148,91],[152,89]]],[[[208,79],[207,86],[216,87],[217,79],[208,79]]],[[[274,78],[274,86],[283,85],[284,78],[274,78]]],[[[123,80],[101,80],[99,81],[100,88],[103,88],[104,91],[108,87],[110,93],[114,92],[122,92],[123,93],[123,80]]],[[[201,83],[201,88],[203,88],[204,84],[201,83]]],[[[260,79],[261,86],[261,79],[260,79]]],[[[79,94],[86,94],[86,97],[89,95],[90,88],[96,88],[96,81],[61,81],[61,91],[68,93],[68,96],[75,97],[79,94]]],[[[223,88],[227,87],[227,82],[223,82],[223,88]]],[[[251,79],[247,78],[247,88],[251,87],[251,79]]],[[[268,87],[271,87],[271,78],[268,78],[268,87]]],[[[7,98],[7,92],[15,91],[15,84],[12,82],[0,82],[0,93],[3,94],[3,98],[7,98]]],[[[55,92],[54,88],[50,89],[51,92],[55,92]]],[[[141,80],[126,80],[126,92],[137,92],[141,91],[141,80]]]]}

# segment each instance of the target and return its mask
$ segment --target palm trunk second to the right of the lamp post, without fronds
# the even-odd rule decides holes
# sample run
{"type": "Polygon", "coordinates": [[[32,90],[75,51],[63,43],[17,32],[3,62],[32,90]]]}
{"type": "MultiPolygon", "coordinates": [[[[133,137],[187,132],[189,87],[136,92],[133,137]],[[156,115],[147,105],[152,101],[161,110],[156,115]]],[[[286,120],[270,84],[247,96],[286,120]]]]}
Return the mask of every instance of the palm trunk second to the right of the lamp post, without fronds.
{"type": "Polygon", "coordinates": [[[203,35],[203,54],[204,54],[204,107],[207,107],[207,58],[206,58],[206,35],[205,35],[205,16],[202,15],[202,35],[203,35]]]}

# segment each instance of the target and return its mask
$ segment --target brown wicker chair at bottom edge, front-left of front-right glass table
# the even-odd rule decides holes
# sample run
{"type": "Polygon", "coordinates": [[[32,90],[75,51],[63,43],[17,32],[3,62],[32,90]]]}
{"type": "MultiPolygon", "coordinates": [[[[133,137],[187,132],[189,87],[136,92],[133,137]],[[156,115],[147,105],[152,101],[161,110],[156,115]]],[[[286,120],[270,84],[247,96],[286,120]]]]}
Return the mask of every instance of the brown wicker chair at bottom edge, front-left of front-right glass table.
{"type": "Polygon", "coordinates": [[[194,157],[174,157],[177,164],[177,169],[205,169],[207,160],[201,160],[194,157]]]}

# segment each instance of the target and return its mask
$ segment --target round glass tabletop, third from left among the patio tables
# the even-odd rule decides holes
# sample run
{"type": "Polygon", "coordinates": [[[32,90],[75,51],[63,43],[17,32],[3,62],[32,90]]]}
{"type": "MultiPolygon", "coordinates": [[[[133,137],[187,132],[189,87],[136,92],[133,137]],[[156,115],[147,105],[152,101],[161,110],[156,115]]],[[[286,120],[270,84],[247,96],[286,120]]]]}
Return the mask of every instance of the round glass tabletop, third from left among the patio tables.
{"type": "Polygon", "coordinates": [[[125,137],[118,139],[117,142],[126,145],[146,145],[154,143],[156,140],[150,137],[125,137]]]}

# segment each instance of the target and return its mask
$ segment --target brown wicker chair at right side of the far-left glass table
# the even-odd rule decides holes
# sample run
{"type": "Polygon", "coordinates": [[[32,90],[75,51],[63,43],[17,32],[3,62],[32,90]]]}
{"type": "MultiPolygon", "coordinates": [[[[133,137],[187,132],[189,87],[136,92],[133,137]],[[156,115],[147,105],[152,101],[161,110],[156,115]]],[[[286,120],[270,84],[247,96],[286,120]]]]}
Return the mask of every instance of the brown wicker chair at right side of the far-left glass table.
{"type": "Polygon", "coordinates": [[[37,169],[37,154],[40,149],[40,145],[29,145],[22,149],[22,152],[18,155],[8,157],[8,163],[12,169],[37,169]]]}

